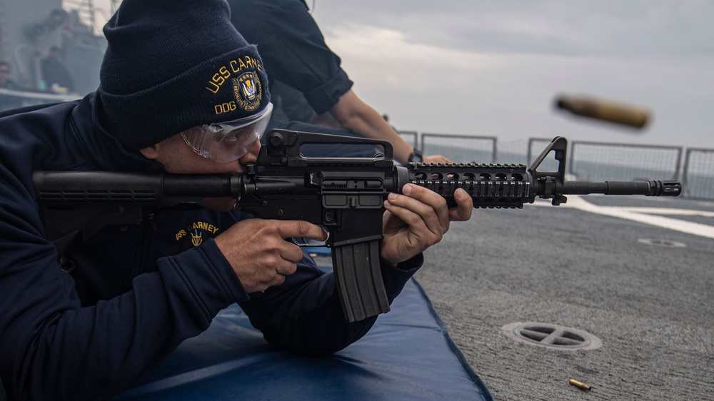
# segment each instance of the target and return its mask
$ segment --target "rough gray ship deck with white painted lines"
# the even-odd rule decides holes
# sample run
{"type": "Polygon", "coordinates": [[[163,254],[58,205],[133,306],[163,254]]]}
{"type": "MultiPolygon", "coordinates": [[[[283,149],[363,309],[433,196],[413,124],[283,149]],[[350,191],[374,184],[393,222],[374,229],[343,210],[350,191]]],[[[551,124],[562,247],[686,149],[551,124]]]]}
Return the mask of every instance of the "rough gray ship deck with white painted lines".
{"type": "Polygon", "coordinates": [[[710,400],[714,203],[568,198],[474,210],[427,251],[416,279],[473,370],[496,400],[710,400]],[[533,345],[506,335],[511,323],[584,330],[602,346],[533,345]]]}

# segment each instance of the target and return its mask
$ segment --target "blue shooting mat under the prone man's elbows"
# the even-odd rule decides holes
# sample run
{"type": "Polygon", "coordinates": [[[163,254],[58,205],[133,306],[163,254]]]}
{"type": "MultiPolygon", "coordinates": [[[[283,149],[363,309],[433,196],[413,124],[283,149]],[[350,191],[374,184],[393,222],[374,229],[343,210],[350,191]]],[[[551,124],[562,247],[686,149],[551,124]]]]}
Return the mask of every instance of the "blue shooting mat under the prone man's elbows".
{"type": "Polygon", "coordinates": [[[113,400],[493,400],[416,280],[329,357],[278,351],[238,305],[113,400]]]}

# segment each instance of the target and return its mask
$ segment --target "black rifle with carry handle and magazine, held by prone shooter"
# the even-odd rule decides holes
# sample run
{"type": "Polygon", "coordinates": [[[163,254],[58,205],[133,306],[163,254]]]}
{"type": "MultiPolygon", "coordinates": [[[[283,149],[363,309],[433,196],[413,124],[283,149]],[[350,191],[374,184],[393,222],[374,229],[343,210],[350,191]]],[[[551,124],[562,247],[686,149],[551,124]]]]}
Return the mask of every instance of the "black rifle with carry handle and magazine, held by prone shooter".
{"type": "Polygon", "coordinates": [[[566,194],[678,196],[678,181],[565,181],[567,141],[558,137],[530,168],[523,164],[409,163],[395,166],[387,141],[274,130],[266,136],[256,163],[244,173],[189,174],[47,172],[34,173],[46,236],[60,253],[74,235],[89,238],[105,225],[137,224],[144,206],[193,203],[231,196],[236,209],[258,218],[305,220],[329,230],[333,268],[349,321],[389,310],[381,278],[379,241],[383,200],[412,183],[456,205],[453,193],[465,189],[476,208],[523,208],[535,198],[565,203],[566,194]],[[371,145],[373,158],[306,158],[306,144],[371,145]],[[538,166],[554,151],[558,171],[538,166]]]}

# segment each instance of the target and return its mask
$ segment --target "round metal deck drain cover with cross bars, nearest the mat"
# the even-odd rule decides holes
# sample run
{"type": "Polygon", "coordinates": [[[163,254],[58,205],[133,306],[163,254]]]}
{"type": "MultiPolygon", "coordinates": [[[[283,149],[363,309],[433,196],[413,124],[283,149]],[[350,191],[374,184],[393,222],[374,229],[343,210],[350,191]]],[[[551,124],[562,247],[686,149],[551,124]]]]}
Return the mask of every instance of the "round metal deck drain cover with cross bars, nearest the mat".
{"type": "Polygon", "coordinates": [[[586,331],[548,323],[511,323],[501,330],[514,340],[555,350],[595,350],[603,346],[598,337],[586,331]]]}

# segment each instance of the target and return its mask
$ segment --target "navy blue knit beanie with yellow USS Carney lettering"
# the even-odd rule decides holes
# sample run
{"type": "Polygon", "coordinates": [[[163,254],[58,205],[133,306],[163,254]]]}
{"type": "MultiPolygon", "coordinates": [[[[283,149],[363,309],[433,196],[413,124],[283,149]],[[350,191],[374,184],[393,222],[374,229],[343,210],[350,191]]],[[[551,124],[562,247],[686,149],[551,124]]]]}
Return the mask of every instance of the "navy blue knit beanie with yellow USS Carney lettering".
{"type": "Polygon", "coordinates": [[[263,110],[268,78],[225,0],[124,0],[104,26],[99,118],[130,151],[263,110]]]}

